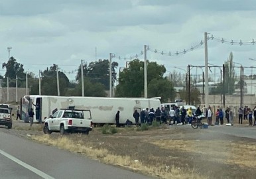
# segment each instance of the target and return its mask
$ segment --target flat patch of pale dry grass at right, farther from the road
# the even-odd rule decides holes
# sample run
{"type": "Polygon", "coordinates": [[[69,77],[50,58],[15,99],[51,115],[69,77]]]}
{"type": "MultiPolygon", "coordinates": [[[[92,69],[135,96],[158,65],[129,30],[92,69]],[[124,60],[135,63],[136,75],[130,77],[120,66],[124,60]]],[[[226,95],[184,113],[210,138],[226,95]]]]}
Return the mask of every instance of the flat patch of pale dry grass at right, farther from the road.
{"type": "Polygon", "coordinates": [[[208,160],[225,164],[238,164],[242,167],[256,168],[256,147],[253,143],[235,141],[201,140],[162,140],[153,141],[163,149],[184,150],[205,155],[208,160]]]}

